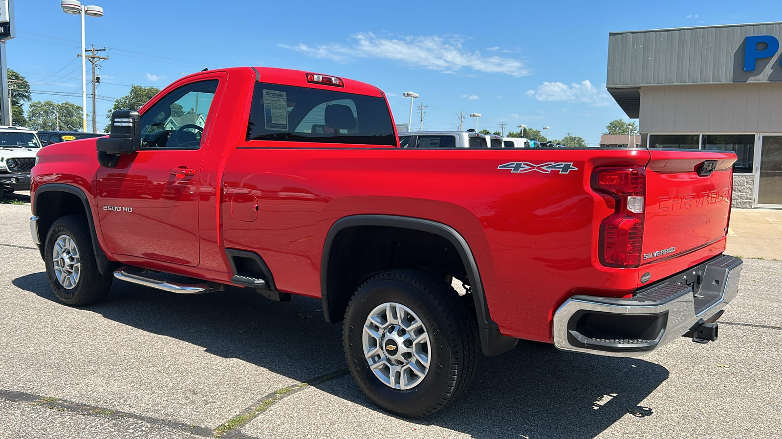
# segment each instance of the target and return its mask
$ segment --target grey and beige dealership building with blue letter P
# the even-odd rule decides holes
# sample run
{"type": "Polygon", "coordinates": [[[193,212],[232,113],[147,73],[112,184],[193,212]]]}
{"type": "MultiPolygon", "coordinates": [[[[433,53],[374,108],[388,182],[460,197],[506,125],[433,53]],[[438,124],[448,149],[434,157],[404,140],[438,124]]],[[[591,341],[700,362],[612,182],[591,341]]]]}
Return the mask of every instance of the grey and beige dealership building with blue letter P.
{"type": "Polygon", "coordinates": [[[606,87],[640,144],[736,152],[734,207],[782,208],[782,23],[608,34],[606,87]]]}

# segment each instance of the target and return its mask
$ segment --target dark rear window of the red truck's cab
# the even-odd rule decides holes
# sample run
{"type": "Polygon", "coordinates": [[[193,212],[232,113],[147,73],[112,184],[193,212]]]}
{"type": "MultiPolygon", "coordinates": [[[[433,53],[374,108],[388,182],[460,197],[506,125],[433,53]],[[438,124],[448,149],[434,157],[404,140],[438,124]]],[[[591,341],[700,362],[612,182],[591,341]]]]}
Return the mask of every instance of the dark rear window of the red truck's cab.
{"type": "Polygon", "coordinates": [[[396,146],[396,128],[383,98],[257,83],[247,140],[396,146]]]}

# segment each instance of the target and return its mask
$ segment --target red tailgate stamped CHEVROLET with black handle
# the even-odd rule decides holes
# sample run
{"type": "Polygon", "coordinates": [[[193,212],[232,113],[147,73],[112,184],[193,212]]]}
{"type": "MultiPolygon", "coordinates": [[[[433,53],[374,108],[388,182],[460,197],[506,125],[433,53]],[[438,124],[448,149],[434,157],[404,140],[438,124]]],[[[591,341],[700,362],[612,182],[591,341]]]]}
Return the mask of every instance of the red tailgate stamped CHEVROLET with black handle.
{"type": "Polygon", "coordinates": [[[641,265],[697,251],[725,237],[734,152],[649,150],[641,265]]]}

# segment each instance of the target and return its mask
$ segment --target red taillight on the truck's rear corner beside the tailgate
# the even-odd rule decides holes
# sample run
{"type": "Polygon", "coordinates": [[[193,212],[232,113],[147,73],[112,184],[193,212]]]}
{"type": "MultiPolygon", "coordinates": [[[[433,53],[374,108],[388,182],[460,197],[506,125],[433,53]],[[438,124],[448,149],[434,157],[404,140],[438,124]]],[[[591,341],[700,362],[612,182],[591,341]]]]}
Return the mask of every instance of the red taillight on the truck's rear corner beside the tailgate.
{"type": "Polygon", "coordinates": [[[592,189],[614,209],[600,224],[600,262],[620,268],[639,266],[644,239],[644,168],[598,168],[592,173],[592,189]]]}

